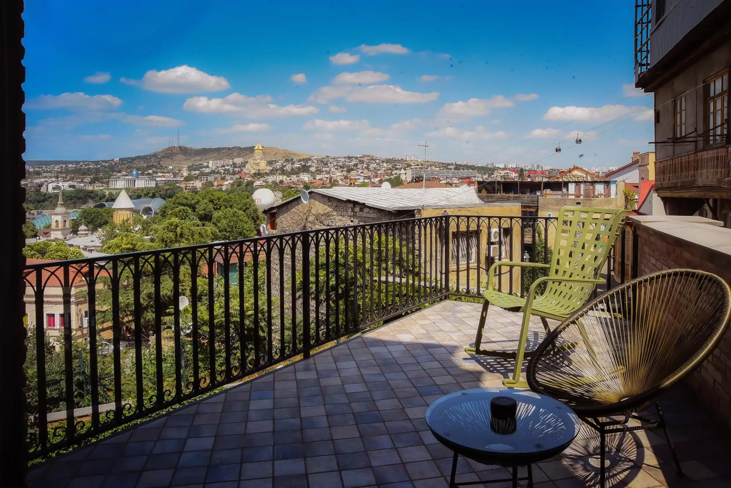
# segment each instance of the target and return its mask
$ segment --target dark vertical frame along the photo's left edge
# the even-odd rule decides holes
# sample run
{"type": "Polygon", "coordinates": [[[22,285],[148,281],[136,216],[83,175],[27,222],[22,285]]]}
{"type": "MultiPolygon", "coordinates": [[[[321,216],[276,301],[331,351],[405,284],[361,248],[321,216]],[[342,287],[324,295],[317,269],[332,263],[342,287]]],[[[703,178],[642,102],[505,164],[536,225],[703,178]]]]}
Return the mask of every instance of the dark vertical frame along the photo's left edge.
{"type": "Polygon", "coordinates": [[[23,131],[22,83],[26,79],[23,67],[23,0],[0,1],[0,151],[3,178],[0,178],[0,209],[5,216],[4,227],[9,230],[0,239],[0,301],[3,317],[0,321],[4,345],[0,351],[0,372],[3,374],[3,401],[0,402],[0,480],[4,487],[23,487],[26,477],[26,421],[24,418],[26,385],[23,363],[26,358],[26,328],[23,326],[23,209],[25,190],[20,181],[25,177],[23,152],[26,141],[23,131]]]}

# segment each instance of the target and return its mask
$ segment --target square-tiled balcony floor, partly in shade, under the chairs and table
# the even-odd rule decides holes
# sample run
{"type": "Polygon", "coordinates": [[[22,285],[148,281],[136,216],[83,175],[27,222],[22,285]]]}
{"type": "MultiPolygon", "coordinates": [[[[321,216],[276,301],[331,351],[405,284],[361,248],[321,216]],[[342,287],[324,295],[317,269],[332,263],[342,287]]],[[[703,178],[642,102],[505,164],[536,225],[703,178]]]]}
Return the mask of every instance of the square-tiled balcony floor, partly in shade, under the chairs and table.
{"type": "MultiPolygon", "coordinates": [[[[444,301],[306,361],[230,388],[29,474],[31,488],[447,487],[451,451],[424,414],[462,388],[501,386],[510,361],[477,364],[480,304],[444,301]]],[[[488,338],[517,337],[520,315],[491,309],[488,338]]],[[[540,330],[539,323],[536,331],[540,330]]],[[[538,334],[531,338],[537,340],[538,334]]],[[[618,435],[607,486],[731,487],[728,441],[679,389],[664,399],[686,477],[675,478],[658,432],[618,435]]],[[[534,467],[537,487],[596,486],[599,443],[583,431],[561,456],[534,467]]],[[[461,459],[457,481],[508,471],[461,459]]],[[[480,485],[482,486],[482,485],[480,485]]],[[[499,485],[485,485],[502,488],[499,485]]]]}

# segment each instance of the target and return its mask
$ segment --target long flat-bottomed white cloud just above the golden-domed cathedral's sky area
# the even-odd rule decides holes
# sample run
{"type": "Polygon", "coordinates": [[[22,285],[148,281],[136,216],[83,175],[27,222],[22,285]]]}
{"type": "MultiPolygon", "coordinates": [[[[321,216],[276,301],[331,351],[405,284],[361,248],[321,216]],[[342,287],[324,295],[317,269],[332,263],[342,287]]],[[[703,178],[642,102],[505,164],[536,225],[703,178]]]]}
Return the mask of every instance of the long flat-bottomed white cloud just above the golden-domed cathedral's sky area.
{"type": "Polygon", "coordinates": [[[269,95],[247,97],[232,93],[223,98],[192,97],[183,103],[183,108],[191,112],[235,113],[247,119],[270,119],[274,117],[306,116],[319,112],[311,105],[276,105],[269,95]]]}

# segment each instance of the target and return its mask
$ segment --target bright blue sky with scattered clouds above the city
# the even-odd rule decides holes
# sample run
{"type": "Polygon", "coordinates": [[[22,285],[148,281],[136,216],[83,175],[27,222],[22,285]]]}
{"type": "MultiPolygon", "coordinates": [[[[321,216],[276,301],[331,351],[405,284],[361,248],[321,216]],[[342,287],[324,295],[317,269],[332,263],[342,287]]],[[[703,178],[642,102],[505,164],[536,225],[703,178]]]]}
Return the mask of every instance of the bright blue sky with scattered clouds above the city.
{"type": "Polygon", "coordinates": [[[178,129],[187,146],[404,157],[426,140],[429,159],[559,168],[651,150],[629,0],[39,0],[24,18],[26,159],[143,154],[178,129]]]}

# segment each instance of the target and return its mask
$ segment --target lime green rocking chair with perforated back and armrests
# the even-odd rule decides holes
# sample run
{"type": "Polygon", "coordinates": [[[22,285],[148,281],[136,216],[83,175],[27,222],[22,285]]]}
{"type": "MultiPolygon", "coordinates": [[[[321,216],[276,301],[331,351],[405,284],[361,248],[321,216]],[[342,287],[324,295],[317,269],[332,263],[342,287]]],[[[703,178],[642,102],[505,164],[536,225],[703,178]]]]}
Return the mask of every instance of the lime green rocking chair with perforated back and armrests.
{"type": "Polygon", "coordinates": [[[488,271],[488,286],[480,313],[480,324],[477,326],[477,337],[473,347],[465,348],[465,352],[477,356],[515,358],[512,378],[503,380],[503,384],[508,387],[528,388],[528,383],[520,380],[520,369],[523,367],[523,359],[533,353],[526,352],[531,315],[541,318],[548,334],[550,328],[547,319],[564,320],[588,300],[596,285],[604,282],[599,279],[599,274],[624,227],[627,215],[628,210],[565,206],[558,214],[550,264],[518,261],[493,263],[488,271]],[[501,266],[548,269],[548,276],[536,279],[528,295],[523,298],[493,289],[495,271],[501,266]],[[545,290],[539,293],[543,287],[545,290]],[[491,304],[512,312],[523,312],[523,324],[515,351],[487,350],[481,347],[488,307],[491,304]]]}

